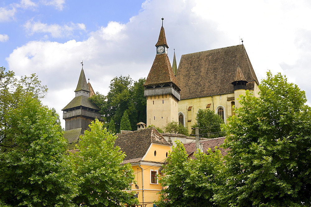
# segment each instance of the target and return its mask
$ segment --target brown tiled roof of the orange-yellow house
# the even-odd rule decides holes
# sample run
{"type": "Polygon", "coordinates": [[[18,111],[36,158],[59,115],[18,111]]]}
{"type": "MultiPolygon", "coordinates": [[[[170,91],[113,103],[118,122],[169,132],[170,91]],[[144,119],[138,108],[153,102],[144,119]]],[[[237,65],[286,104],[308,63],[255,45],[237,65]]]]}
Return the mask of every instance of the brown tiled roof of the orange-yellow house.
{"type": "Polygon", "coordinates": [[[169,144],[154,127],[118,135],[114,145],[127,155],[124,162],[138,162],[146,154],[151,143],[169,144]]]}

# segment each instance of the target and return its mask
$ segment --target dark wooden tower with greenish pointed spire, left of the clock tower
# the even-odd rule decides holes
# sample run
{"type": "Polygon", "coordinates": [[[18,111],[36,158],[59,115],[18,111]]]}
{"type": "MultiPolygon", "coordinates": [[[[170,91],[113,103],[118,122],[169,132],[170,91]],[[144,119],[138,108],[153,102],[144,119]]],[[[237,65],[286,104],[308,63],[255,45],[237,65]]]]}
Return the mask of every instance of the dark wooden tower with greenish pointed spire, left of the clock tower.
{"type": "Polygon", "coordinates": [[[77,139],[84,131],[89,128],[89,124],[95,118],[100,119],[100,108],[89,99],[94,90],[90,83],[86,83],[85,74],[82,69],[75,90],[75,98],[65,106],[63,111],[63,119],[65,120],[64,138],[69,143],[77,142],[77,139]]]}

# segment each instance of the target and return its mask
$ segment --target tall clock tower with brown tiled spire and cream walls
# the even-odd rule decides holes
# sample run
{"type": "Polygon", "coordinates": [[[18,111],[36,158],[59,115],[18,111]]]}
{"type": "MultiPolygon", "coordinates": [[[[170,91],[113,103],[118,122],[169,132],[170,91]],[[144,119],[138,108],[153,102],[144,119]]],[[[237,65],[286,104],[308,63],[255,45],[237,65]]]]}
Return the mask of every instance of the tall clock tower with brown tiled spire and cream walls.
{"type": "Polygon", "coordinates": [[[178,122],[179,87],[167,56],[165,32],[160,29],[156,43],[156,57],[144,84],[147,99],[147,126],[164,128],[171,121],[178,122]]]}

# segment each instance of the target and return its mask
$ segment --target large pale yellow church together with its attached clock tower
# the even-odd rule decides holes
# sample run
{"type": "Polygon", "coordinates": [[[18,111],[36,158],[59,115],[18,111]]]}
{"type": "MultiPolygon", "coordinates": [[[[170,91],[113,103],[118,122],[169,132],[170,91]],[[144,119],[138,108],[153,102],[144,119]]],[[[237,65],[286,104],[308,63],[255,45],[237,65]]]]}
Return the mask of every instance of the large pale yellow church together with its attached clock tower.
{"type": "Polygon", "coordinates": [[[144,84],[147,125],[164,128],[171,121],[188,127],[196,123],[198,109],[210,109],[226,122],[239,107],[245,90],[258,95],[258,79],[244,45],[182,55],[177,69],[167,56],[163,25],[156,43],[156,57],[144,84]]]}

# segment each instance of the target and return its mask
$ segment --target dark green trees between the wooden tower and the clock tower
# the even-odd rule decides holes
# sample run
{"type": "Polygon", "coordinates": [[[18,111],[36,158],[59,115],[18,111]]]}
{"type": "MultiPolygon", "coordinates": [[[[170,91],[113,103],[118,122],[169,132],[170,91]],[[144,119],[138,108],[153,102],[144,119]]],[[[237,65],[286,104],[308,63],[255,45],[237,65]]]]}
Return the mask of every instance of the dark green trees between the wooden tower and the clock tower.
{"type": "Polygon", "coordinates": [[[114,77],[106,96],[96,92],[90,99],[104,115],[105,121],[114,119],[116,131],[120,131],[120,122],[124,111],[128,111],[131,130],[136,130],[138,122],[146,123],[146,98],[144,97],[145,78],[133,81],[130,76],[114,77]]]}

